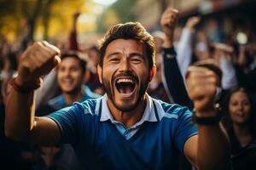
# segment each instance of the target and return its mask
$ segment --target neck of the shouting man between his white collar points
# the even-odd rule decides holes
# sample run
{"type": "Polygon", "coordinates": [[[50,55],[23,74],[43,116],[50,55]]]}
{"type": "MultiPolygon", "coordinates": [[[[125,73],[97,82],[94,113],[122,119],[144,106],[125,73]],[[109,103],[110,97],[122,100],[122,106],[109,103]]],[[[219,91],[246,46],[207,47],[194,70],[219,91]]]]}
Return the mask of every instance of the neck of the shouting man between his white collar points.
{"type": "Polygon", "coordinates": [[[147,102],[148,98],[146,97],[146,95],[144,95],[143,99],[139,102],[135,109],[125,112],[119,111],[110,101],[110,99],[107,100],[109,111],[111,112],[114,120],[116,120],[117,122],[122,122],[125,127],[131,127],[141,120],[147,102]]]}

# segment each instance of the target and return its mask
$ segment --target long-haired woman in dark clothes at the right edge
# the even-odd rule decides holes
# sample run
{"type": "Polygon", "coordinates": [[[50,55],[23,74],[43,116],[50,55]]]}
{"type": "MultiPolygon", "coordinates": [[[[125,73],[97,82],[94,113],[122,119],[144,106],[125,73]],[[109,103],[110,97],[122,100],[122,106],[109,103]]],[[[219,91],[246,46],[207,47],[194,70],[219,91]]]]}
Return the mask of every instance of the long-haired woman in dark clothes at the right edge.
{"type": "Polygon", "coordinates": [[[250,96],[245,88],[234,88],[222,103],[222,122],[229,134],[235,170],[255,169],[256,166],[256,116],[250,96]]]}

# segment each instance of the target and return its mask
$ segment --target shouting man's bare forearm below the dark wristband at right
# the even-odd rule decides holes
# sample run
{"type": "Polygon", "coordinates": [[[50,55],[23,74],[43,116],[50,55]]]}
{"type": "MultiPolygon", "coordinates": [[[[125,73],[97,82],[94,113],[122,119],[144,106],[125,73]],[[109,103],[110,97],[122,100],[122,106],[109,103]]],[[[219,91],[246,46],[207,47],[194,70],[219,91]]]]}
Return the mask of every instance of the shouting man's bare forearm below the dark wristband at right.
{"type": "Polygon", "coordinates": [[[198,169],[230,169],[230,144],[224,127],[198,126],[198,169]]]}

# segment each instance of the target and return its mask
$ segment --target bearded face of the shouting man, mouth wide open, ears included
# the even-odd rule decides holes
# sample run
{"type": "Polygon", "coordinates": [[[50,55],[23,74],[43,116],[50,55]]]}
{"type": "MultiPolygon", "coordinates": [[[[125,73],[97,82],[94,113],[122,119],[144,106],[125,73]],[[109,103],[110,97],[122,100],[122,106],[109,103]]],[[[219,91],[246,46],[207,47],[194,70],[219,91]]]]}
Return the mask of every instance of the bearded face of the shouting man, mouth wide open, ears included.
{"type": "Polygon", "coordinates": [[[155,68],[149,70],[143,44],[132,39],[110,42],[102,68],[98,69],[108,102],[119,111],[132,111],[137,107],[155,72],[155,68]]]}

